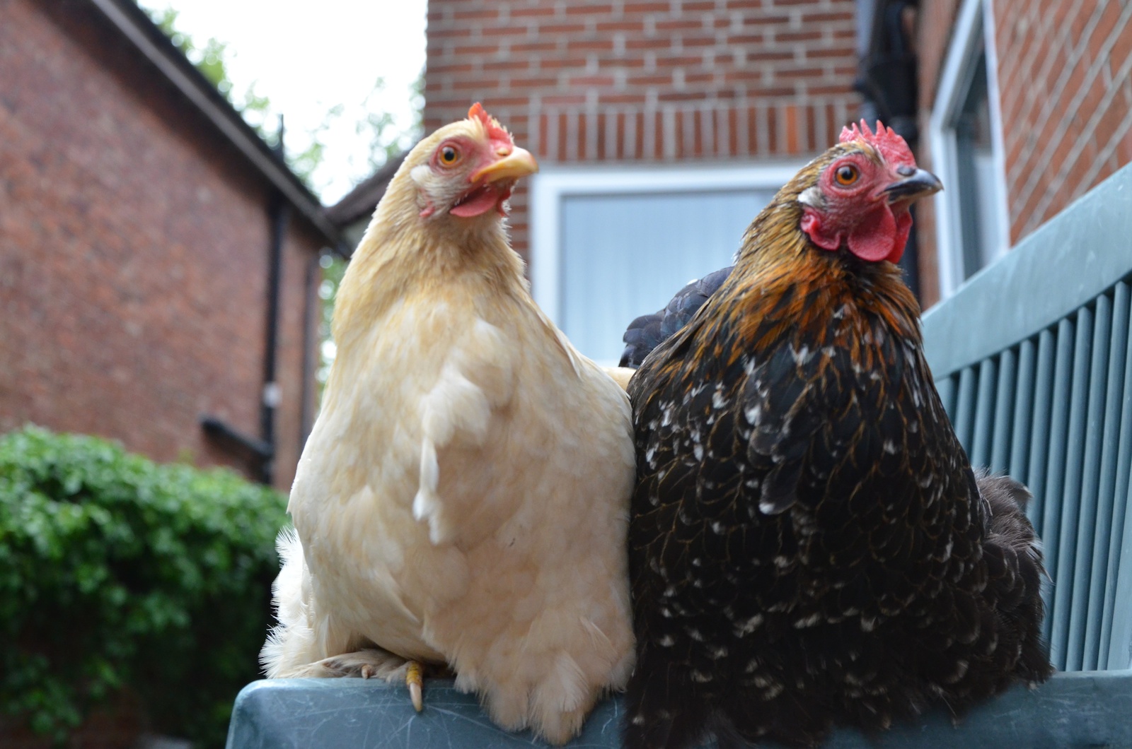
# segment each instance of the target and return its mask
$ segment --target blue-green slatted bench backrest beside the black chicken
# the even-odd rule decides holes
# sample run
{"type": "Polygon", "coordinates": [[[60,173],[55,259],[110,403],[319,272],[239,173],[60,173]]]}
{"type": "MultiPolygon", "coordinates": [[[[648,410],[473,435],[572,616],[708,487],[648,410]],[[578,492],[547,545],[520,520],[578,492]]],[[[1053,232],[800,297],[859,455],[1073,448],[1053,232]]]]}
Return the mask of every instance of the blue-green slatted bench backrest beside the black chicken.
{"type": "Polygon", "coordinates": [[[1126,167],[924,317],[971,463],[1034,492],[1064,671],[1132,666],[1130,278],[1126,167]]]}

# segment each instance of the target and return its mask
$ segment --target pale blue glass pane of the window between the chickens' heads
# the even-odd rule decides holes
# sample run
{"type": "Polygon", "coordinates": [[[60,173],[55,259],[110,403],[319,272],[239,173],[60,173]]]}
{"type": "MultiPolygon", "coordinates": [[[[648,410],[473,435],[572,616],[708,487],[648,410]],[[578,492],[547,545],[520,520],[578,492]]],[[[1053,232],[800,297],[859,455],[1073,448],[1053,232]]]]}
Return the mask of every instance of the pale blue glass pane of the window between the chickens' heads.
{"type": "Polygon", "coordinates": [[[773,190],[568,196],[563,199],[563,330],[601,363],[621,335],[693,278],[731,264],[773,190]]]}

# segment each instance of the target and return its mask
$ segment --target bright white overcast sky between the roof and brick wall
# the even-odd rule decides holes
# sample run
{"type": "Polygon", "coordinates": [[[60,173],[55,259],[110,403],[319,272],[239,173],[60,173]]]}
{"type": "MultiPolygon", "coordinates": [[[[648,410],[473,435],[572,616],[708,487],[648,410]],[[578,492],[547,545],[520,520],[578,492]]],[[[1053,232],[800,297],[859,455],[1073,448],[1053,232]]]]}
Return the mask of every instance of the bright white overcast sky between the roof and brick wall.
{"type": "MultiPolygon", "coordinates": [[[[413,122],[411,86],[424,68],[426,0],[140,0],[149,9],[172,7],[177,28],[203,46],[209,37],[228,43],[233,89],[256,83],[256,93],[282,112],[286,140],[302,149],[307,134],[327,111],[342,104],[342,117],[324,132],[325,161],[315,173],[323,203],[334,204],[363,179],[368,144],[354,132],[365,100],[378,77],[384,94],[374,110],[413,122]]],[[[274,126],[271,126],[274,128],[274,126]]]]}

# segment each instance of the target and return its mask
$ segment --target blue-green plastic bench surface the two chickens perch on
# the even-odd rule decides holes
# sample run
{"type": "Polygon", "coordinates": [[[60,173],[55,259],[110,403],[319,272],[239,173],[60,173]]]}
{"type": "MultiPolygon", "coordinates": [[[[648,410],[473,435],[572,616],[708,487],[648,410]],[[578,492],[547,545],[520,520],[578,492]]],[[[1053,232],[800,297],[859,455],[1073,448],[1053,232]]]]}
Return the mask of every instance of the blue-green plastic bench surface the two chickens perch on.
{"type": "MultiPolygon", "coordinates": [[[[606,700],[568,747],[620,746],[620,703],[606,700]]],[[[530,733],[495,728],[475,697],[451,681],[427,681],[418,714],[403,687],[361,679],[256,681],[240,692],[228,749],[511,749],[546,747],[530,733]]],[[[764,744],[765,746],[765,744],[764,744]]],[[[996,747],[1132,747],[1132,671],[1055,675],[1040,688],[1017,687],[979,706],[958,725],[942,709],[867,738],[837,731],[826,747],[951,749],[996,747]]]]}

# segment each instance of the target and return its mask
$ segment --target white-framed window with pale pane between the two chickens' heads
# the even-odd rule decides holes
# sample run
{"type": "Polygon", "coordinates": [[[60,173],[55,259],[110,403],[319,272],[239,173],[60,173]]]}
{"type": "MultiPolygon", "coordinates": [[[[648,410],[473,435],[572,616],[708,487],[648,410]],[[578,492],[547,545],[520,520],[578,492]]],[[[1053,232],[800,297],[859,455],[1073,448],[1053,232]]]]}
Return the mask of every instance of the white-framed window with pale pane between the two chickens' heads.
{"type": "Polygon", "coordinates": [[[543,170],[531,198],[535,301],[583,354],[616,364],[629,321],[730,265],[799,166],[543,170]]]}

